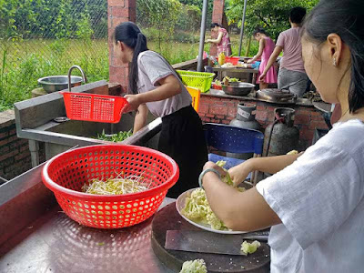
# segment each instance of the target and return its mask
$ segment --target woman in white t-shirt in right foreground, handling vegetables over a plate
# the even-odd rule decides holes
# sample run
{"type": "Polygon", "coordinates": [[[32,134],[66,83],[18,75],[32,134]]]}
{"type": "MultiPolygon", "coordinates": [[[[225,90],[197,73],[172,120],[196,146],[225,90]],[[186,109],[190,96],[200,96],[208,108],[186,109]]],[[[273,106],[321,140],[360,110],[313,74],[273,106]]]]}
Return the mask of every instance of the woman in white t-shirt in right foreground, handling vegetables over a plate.
{"type": "Polygon", "coordinates": [[[245,192],[201,173],[227,227],[271,227],[270,272],[364,271],[364,2],[321,0],[303,26],[302,56],[322,99],[342,114],[302,155],[248,159],[228,170],[237,186],[254,170],[274,174],[245,192]]]}

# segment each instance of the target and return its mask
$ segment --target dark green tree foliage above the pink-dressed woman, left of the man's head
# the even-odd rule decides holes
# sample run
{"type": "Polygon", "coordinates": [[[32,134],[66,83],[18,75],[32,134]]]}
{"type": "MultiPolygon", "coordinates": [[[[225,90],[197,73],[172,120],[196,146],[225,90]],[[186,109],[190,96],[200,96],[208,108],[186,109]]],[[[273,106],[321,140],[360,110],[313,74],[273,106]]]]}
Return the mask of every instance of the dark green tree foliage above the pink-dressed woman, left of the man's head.
{"type": "MultiPolygon", "coordinates": [[[[294,6],[303,6],[310,10],[319,0],[248,0],[245,28],[251,33],[256,26],[264,27],[268,34],[276,39],[280,32],[289,28],[288,15],[294,6]]],[[[227,0],[226,14],[228,24],[241,26],[244,0],[227,0]]]]}

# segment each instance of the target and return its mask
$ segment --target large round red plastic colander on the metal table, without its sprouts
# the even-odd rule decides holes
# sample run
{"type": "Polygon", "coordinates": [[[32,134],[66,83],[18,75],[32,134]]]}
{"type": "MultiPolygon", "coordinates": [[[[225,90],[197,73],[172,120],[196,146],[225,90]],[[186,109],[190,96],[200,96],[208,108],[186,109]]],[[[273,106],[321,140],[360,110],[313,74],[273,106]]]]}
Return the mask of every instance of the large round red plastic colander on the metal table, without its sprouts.
{"type": "Polygon", "coordinates": [[[147,147],[97,145],[76,148],[53,157],[43,168],[45,186],[68,217],[98,228],[136,225],[151,217],[179,177],[176,162],[147,147]],[[143,192],[126,195],[92,195],[81,187],[93,178],[106,179],[124,172],[125,176],[145,177],[151,183],[143,192]]]}

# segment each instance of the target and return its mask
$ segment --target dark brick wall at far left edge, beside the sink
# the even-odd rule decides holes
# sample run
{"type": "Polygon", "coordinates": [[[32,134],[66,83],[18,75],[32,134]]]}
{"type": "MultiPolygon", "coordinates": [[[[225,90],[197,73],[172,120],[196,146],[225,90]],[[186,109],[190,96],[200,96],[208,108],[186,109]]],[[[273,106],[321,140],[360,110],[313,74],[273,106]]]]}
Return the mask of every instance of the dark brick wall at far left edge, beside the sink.
{"type": "MultiPolygon", "coordinates": [[[[44,161],[44,149],[41,155],[44,161]]],[[[0,112],[0,177],[10,180],[30,168],[28,141],[16,136],[14,110],[0,112]]]]}

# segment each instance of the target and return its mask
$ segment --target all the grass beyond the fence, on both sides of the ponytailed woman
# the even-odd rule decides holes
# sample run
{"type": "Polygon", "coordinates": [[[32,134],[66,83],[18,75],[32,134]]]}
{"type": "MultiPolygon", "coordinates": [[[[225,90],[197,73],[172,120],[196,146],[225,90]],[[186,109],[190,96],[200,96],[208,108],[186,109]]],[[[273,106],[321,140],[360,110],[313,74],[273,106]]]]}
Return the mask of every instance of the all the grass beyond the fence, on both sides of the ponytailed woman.
{"type": "MultiPolygon", "coordinates": [[[[185,40],[187,34],[183,35],[185,40]]],[[[198,42],[193,42],[197,37],[198,35],[189,37],[190,43],[171,41],[160,45],[158,41],[149,39],[148,46],[165,56],[173,65],[197,57],[198,42]]],[[[233,54],[237,56],[238,35],[232,35],[231,40],[233,54]]],[[[258,51],[258,46],[256,47],[258,51]]],[[[205,51],[209,51],[209,45],[205,45],[205,51]]],[[[245,49],[242,51],[243,55],[244,53],[245,49]]],[[[0,41],[0,111],[13,107],[15,102],[30,98],[31,91],[38,86],[38,78],[66,75],[73,65],[84,69],[88,82],[108,80],[107,41],[0,41]]],[[[77,72],[73,75],[77,75],[77,72]]]]}

